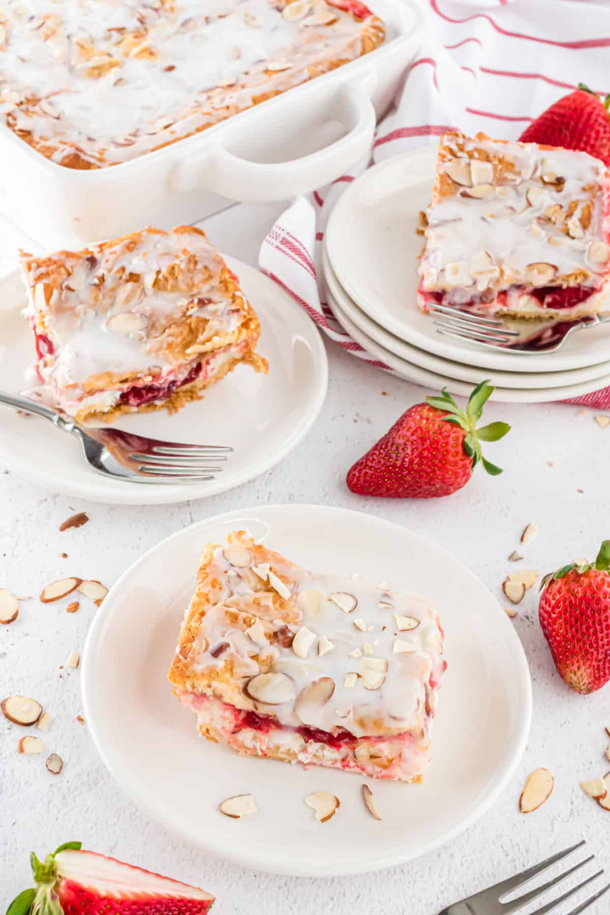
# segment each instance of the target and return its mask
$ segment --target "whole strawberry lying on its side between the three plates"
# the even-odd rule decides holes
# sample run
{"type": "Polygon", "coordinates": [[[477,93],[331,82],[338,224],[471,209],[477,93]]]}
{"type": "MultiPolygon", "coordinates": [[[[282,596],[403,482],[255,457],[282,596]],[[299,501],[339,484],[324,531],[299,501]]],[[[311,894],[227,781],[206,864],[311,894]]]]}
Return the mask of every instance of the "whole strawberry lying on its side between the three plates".
{"type": "Polygon", "coordinates": [[[412,406],[348,471],[349,489],[362,496],[433,499],[466,486],[479,460],[487,473],[501,473],[483,458],[480,443],[498,441],[510,426],[476,428],[493,390],[489,382],[478,384],[466,411],[445,388],[439,397],[412,406]]]}

